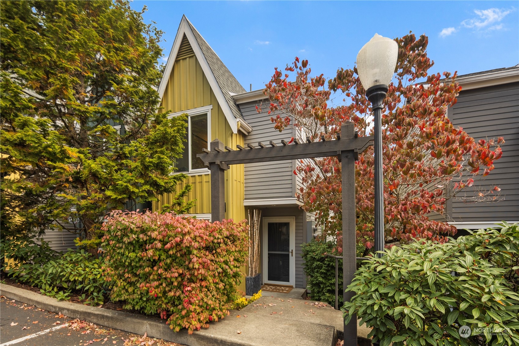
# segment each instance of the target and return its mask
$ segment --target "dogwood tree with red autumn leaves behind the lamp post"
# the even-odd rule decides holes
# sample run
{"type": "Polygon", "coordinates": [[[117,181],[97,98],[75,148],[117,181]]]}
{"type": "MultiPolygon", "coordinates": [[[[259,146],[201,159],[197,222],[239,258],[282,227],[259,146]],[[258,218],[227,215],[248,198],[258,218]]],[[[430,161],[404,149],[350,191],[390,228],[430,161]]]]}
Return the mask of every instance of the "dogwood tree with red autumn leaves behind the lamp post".
{"type": "MultiPolygon", "coordinates": [[[[456,228],[446,222],[430,220],[444,215],[445,202],[456,198],[494,168],[501,157],[496,140],[471,138],[456,128],[446,116],[456,103],[461,87],[456,73],[428,74],[433,61],[427,57],[428,38],[414,34],[396,38],[399,59],[393,82],[384,100],[382,116],[384,214],[386,244],[407,242],[412,237],[442,240],[456,228]],[[418,81],[424,81],[417,83],[418,81]],[[454,180],[454,184],[450,182],[454,180]]],[[[340,126],[353,122],[359,136],[373,132],[371,104],[365,97],[357,69],[339,69],[326,81],[311,77],[308,60],[287,65],[283,74],[277,68],[266,85],[270,99],[269,114],[275,128],[294,127],[302,139],[312,141],[335,138],[340,126]],[[327,83],[326,83],[327,82],[327,83]],[[339,105],[334,100],[343,99],[339,105]],[[274,115],[276,114],[276,115],[274,115]]],[[[323,235],[337,239],[342,249],[342,189],[340,163],[336,157],[301,161],[294,174],[303,176],[299,196],[304,209],[314,212],[323,226],[323,235]]],[[[357,241],[365,245],[364,254],[373,247],[374,235],[374,157],[373,147],[359,155],[356,162],[357,241]]],[[[495,199],[495,187],[476,194],[479,201],[495,199]]]]}

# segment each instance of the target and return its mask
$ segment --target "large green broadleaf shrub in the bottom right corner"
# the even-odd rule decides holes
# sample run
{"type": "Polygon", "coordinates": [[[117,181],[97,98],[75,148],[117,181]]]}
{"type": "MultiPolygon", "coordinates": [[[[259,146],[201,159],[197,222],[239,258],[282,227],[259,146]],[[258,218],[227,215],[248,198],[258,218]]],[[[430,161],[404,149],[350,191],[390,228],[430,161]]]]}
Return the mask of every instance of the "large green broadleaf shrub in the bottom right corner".
{"type": "Polygon", "coordinates": [[[357,270],[346,322],[357,314],[382,346],[518,344],[519,296],[507,280],[518,244],[517,225],[503,223],[444,244],[392,247],[357,270]],[[463,338],[463,325],[485,329],[463,338]]]}

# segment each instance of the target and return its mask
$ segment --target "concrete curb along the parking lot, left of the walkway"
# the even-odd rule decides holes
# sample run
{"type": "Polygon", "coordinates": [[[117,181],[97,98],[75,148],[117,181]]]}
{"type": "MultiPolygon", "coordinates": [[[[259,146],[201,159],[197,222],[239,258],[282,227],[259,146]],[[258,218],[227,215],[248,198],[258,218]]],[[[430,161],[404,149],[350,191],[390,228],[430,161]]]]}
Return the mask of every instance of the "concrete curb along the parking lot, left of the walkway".
{"type": "MultiPolygon", "coordinates": [[[[58,301],[55,298],[43,296],[33,291],[1,283],[0,294],[9,299],[15,299],[27,304],[36,305],[36,307],[40,309],[60,313],[67,317],[79,318],[80,320],[108,328],[124,330],[139,335],[144,335],[146,332],[148,337],[182,343],[189,346],[252,346],[243,343],[236,343],[233,340],[223,339],[220,335],[216,337],[210,332],[201,332],[202,330],[195,332],[192,335],[187,334],[187,330],[185,329],[179,332],[174,332],[169,328],[165,321],[160,320],[158,317],[94,308],[88,305],[81,305],[67,301],[58,301]]],[[[209,331],[209,329],[203,329],[203,331],[209,331]]]]}

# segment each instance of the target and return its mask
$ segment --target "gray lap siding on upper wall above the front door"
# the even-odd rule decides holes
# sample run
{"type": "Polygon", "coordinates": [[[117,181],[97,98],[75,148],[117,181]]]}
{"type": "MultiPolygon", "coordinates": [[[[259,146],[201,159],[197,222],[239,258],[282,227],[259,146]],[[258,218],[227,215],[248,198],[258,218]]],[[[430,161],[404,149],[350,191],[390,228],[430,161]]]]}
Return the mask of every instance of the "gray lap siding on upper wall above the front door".
{"type": "MultiPolygon", "coordinates": [[[[267,114],[268,102],[261,107],[261,113],[257,112],[256,105],[260,107],[261,101],[239,104],[245,122],[252,127],[251,133],[244,139],[245,145],[250,143],[257,147],[258,142],[267,145],[269,141],[282,145],[282,139],[289,141],[293,137],[290,128],[284,129],[282,132],[274,128],[274,124],[270,121],[271,115],[267,114]]],[[[253,163],[244,166],[245,199],[294,198],[295,185],[292,172],[295,166],[293,160],[253,163]]]]}

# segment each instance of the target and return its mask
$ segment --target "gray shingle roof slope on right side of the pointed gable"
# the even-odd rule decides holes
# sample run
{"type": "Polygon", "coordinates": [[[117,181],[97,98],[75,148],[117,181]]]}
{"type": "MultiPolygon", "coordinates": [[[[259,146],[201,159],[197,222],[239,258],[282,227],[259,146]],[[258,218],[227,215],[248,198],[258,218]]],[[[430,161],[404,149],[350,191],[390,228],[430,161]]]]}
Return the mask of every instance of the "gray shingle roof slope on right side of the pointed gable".
{"type": "Polygon", "coordinates": [[[189,22],[189,20],[187,22],[189,23],[191,30],[193,30],[198,45],[200,46],[204,57],[206,57],[211,71],[213,71],[218,86],[220,86],[220,89],[222,89],[225,100],[229,104],[229,108],[231,111],[233,111],[233,114],[236,118],[242,118],[241,112],[229,92],[232,92],[233,94],[242,94],[245,92],[245,89],[236,80],[235,76],[230,73],[229,69],[227,69],[227,66],[224,65],[222,60],[220,60],[211,46],[209,46],[202,35],[200,35],[200,33],[195,29],[193,24],[189,22]]]}

